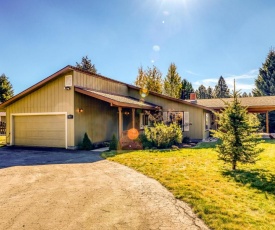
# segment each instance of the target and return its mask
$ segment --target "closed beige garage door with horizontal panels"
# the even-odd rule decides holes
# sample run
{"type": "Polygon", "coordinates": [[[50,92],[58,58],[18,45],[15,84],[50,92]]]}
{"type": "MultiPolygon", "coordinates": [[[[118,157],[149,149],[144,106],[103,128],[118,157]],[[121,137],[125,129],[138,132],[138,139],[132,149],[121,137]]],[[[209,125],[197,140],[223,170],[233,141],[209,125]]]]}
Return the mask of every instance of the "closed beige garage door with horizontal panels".
{"type": "Polygon", "coordinates": [[[66,148],[65,115],[14,116],[14,145],[66,148]]]}

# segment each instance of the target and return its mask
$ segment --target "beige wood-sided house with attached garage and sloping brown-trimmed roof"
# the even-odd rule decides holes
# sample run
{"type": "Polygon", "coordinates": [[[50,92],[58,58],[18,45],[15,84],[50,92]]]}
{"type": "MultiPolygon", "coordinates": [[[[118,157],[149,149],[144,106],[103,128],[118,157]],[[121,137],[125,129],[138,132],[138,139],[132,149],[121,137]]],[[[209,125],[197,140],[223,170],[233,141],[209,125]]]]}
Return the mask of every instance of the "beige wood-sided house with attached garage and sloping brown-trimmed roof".
{"type": "Polygon", "coordinates": [[[120,140],[130,129],[150,125],[148,111],[177,121],[184,136],[209,135],[212,109],[142,91],[99,74],[66,66],[0,105],[7,118],[8,145],[75,149],[85,132],[93,143],[120,140]]]}

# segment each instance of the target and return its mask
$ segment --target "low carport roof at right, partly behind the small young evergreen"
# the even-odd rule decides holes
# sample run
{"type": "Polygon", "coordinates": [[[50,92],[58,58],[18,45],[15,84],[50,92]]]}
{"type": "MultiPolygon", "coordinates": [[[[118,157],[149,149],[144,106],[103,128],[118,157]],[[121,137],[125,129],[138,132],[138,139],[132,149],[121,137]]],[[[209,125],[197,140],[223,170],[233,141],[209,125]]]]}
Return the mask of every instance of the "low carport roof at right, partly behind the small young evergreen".
{"type": "MultiPolygon", "coordinates": [[[[275,110],[275,96],[241,97],[238,98],[241,105],[247,107],[249,112],[266,112],[275,110]]],[[[194,103],[209,107],[214,110],[223,109],[225,102],[232,102],[233,98],[199,99],[194,103]]]]}

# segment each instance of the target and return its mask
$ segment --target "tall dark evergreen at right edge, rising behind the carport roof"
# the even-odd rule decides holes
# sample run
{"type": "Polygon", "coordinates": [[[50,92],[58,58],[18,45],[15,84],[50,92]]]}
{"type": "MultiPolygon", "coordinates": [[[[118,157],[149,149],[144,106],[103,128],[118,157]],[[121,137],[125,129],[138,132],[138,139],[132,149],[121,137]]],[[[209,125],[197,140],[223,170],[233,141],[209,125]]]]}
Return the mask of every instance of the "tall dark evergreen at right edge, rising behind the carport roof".
{"type": "MultiPolygon", "coordinates": [[[[275,95],[275,51],[271,49],[265,62],[259,69],[258,77],[255,80],[252,90],[254,97],[275,95]]],[[[261,126],[265,130],[265,115],[259,114],[261,126]]],[[[275,111],[269,112],[269,132],[275,132],[275,111]]]]}

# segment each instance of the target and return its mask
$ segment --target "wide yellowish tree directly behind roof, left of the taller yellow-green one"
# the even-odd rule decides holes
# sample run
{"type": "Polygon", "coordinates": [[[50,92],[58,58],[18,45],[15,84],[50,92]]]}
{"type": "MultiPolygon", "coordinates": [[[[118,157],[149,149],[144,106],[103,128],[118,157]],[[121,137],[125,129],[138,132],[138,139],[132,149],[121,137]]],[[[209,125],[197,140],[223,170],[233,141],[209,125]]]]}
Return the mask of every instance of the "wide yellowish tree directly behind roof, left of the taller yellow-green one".
{"type": "Polygon", "coordinates": [[[143,71],[142,67],[140,67],[135,85],[146,88],[149,91],[162,93],[162,74],[155,66],[153,68],[148,67],[146,71],[143,71]]]}

